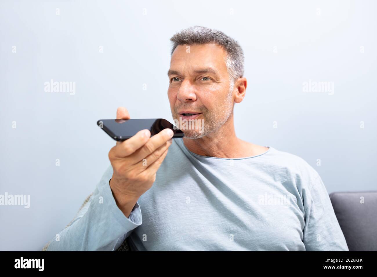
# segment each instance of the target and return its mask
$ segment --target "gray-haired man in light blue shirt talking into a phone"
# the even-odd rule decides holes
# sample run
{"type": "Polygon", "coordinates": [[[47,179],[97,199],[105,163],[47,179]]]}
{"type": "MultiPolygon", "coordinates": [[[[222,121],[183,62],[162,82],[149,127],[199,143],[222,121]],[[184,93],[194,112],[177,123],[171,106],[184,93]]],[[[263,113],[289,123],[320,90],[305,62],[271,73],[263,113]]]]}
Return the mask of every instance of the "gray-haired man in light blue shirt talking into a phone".
{"type": "MultiPolygon", "coordinates": [[[[48,250],[113,251],[129,237],[139,251],[348,251],[318,173],[236,137],[233,107],[247,87],[239,44],[201,26],[171,40],[173,119],[203,128],[182,128],[183,139],[142,130],[117,142],[90,201],[48,250]]],[[[120,107],[117,118],[130,116],[120,107]]]]}

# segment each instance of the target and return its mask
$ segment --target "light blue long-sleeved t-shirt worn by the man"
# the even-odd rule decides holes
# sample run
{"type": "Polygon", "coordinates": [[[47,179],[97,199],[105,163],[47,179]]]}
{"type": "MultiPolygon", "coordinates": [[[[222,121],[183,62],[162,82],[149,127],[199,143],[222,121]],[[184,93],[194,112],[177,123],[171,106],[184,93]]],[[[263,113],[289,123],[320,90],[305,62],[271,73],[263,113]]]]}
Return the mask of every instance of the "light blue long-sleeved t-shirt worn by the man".
{"type": "Polygon", "coordinates": [[[129,218],[110,166],[52,250],[348,251],[328,192],[298,156],[269,147],[247,158],[197,155],[173,139],[156,181],[129,218]]]}

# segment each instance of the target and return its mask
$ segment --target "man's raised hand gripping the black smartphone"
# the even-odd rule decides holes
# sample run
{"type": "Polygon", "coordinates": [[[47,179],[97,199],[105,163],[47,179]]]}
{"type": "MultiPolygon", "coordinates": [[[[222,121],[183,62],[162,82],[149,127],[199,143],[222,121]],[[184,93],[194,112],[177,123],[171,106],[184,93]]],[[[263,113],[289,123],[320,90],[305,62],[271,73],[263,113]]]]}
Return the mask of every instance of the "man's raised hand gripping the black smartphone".
{"type": "MultiPolygon", "coordinates": [[[[126,108],[119,107],[116,119],[130,119],[126,108]]],[[[113,167],[110,180],[116,205],[128,218],[139,197],[156,180],[156,172],[172,144],[173,131],[164,129],[150,137],[150,131],[141,130],[125,141],[117,141],[109,152],[113,167]]]]}

